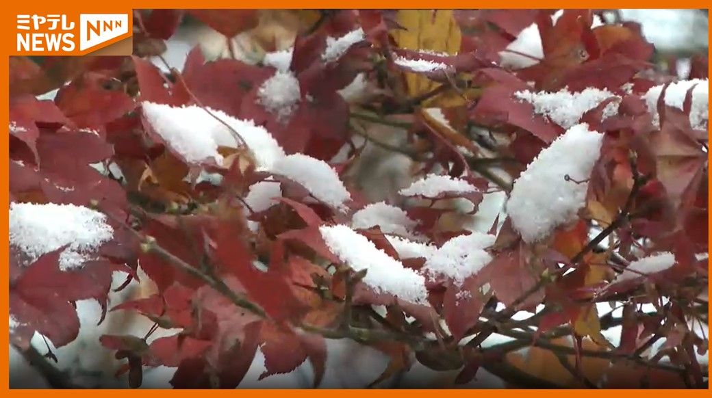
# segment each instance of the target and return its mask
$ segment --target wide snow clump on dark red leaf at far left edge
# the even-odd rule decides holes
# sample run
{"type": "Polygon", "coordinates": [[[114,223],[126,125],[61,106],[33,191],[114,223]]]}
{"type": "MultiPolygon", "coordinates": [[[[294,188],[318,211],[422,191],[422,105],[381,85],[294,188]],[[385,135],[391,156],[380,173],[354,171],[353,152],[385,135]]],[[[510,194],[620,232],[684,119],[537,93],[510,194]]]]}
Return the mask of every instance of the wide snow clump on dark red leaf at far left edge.
{"type": "Polygon", "coordinates": [[[106,215],[77,205],[11,203],[9,218],[10,244],[31,261],[68,244],[59,257],[63,270],[81,267],[114,235],[106,215]]]}

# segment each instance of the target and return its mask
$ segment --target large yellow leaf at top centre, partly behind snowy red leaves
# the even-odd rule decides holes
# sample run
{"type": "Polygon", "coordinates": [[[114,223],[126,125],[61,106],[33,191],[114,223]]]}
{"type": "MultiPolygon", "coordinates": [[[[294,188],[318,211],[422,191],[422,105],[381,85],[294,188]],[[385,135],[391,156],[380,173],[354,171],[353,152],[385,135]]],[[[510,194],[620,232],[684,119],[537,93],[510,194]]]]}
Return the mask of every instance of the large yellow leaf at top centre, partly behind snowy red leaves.
{"type": "MultiPolygon", "coordinates": [[[[400,10],[396,22],[403,29],[394,29],[391,36],[400,48],[430,50],[436,53],[456,54],[460,50],[462,33],[452,10],[400,10]]],[[[430,92],[439,83],[422,75],[405,73],[408,94],[412,97],[430,92]]],[[[428,103],[434,104],[436,97],[428,103]]],[[[447,105],[463,104],[457,93],[450,93],[447,105]]]]}

